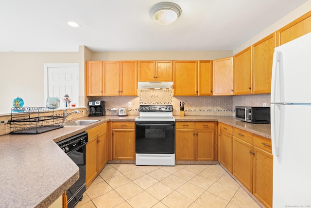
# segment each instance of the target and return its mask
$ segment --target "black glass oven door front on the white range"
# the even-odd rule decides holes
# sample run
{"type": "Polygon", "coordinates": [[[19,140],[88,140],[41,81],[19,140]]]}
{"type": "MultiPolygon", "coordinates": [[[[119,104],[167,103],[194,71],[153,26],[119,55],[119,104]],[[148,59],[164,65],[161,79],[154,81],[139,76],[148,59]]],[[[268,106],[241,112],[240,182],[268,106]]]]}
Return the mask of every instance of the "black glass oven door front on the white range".
{"type": "Polygon", "coordinates": [[[175,153],[175,123],[136,124],[136,153],[175,153]]]}

